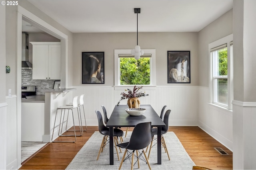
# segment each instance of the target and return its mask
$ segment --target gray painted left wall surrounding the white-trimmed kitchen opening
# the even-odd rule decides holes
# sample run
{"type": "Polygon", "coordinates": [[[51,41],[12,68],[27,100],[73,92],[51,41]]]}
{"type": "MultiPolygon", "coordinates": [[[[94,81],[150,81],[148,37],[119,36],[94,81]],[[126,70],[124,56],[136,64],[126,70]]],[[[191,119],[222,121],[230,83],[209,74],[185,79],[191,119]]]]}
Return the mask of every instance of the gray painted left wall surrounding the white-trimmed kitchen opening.
{"type": "MultiPolygon", "coordinates": [[[[62,31],[64,34],[68,35],[68,58],[67,58],[67,65],[68,65],[68,86],[72,86],[72,39],[73,34],[54,21],[52,18],[44,14],[42,11],[38,10],[35,6],[30,4],[26,0],[20,0],[19,5],[25,8],[26,10],[30,11],[34,15],[38,16],[42,20],[46,21],[56,29],[62,31]]],[[[16,29],[17,29],[17,6],[8,6],[6,8],[6,65],[11,67],[11,72],[9,74],[6,74],[6,89],[5,89],[5,95],[8,96],[8,89],[12,89],[12,95],[15,95],[16,92],[16,29]]],[[[18,72],[18,74],[21,74],[18,72]]]]}

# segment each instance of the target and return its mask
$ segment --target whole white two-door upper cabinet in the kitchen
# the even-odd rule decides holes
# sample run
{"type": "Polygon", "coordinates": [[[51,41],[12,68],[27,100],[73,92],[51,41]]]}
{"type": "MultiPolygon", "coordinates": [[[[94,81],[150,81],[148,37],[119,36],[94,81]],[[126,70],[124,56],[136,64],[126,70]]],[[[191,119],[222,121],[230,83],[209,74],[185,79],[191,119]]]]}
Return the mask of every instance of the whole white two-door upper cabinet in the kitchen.
{"type": "Polygon", "coordinates": [[[32,78],[60,80],[60,42],[30,42],[33,45],[32,78]]]}

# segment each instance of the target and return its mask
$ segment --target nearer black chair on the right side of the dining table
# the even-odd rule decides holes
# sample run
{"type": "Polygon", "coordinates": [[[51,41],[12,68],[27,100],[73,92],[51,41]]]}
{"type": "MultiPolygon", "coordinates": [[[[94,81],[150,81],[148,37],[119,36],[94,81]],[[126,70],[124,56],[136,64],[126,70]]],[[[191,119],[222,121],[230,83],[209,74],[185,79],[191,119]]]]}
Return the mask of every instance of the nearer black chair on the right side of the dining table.
{"type": "MultiPolygon", "coordinates": [[[[169,156],[169,152],[168,152],[165,140],[164,140],[164,134],[166,134],[168,132],[168,129],[169,129],[169,115],[170,115],[170,113],[171,113],[171,110],[167,110],[165,112],[165,114],[164,114],[164,123],[165,123],[166,126],[161,128],[161,143],[162,143],[162,146],[164,147],[165,152],[167,152],[169,160],[170,160],[170,156],[169,156]]],[[[156,128],[152,128],[152,135],[153,135],[153,139],[151,141],[150,149],[148,151],[148,159],[149,159],[149,156],[150,156],[150,151],[151,151],[151,148],[152,148],[153,141],[156,140],[156,138],[154,138],[154,135],[157,135],[157,129],[156,128]]],[[[153,147],[154,147],[154,145],[153,145],[153,147]]]]}

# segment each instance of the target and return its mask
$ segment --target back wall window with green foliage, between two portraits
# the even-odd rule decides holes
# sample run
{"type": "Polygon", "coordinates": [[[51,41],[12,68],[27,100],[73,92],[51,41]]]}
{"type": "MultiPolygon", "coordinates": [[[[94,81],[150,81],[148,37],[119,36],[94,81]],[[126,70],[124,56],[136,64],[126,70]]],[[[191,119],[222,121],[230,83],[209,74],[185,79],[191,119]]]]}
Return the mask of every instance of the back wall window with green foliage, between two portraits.
{"type": "Polygon", "coordinates": [[[134,85],[143,85],[145,88],[156,86],[155,50],[143,51],[144,55],[136,60],[131,50],[114,50],[115,89],[134,85]]]}

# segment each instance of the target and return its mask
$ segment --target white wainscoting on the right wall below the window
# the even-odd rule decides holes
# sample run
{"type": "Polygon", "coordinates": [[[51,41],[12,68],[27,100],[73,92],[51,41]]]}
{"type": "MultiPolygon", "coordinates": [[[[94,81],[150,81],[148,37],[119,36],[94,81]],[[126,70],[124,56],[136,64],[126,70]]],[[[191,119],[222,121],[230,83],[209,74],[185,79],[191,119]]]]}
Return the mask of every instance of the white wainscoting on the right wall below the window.
{"type": "Polygon", "coordinates": [[[209,88],[198,88],[198,126],[232,151],[232,111],[209,104],[209,88]]]}

